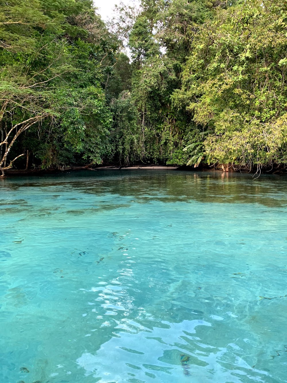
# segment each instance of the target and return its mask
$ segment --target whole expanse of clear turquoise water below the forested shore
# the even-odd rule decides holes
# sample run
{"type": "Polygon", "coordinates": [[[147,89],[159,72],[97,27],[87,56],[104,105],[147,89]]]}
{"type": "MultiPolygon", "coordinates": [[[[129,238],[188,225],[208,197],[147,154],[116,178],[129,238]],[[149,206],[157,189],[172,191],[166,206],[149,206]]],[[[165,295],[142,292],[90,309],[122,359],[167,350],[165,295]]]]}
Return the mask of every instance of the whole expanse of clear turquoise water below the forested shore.
{"type": "Polygon", "coordinates": [[[286,178],[0,181],[1,382],[287,382],[286,178]]]}

